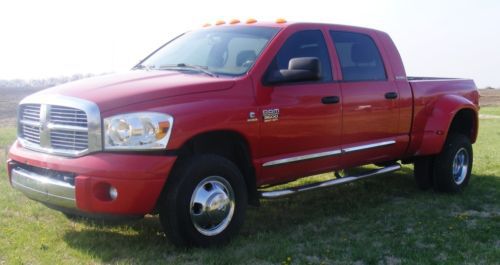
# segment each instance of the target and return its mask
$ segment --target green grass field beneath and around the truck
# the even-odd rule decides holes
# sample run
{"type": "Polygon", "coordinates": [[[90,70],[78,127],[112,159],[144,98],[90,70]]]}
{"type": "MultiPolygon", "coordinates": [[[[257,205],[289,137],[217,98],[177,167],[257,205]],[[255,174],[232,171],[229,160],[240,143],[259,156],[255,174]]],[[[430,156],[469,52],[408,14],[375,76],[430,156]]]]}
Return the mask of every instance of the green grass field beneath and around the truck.
{"type": "MultiPolygon", "coordinates": [[[[0,264],[499,264],[500,120],[480,126],[473,176],[461,194],[418,191],[405,167],[263,201],[219,249],[176,249],[151,216],[114,225],[67,220],[10,188],[2,164],[0,264]]],[[[0,129],[2,146],[13,138],[13,128],[0,129]]]]}

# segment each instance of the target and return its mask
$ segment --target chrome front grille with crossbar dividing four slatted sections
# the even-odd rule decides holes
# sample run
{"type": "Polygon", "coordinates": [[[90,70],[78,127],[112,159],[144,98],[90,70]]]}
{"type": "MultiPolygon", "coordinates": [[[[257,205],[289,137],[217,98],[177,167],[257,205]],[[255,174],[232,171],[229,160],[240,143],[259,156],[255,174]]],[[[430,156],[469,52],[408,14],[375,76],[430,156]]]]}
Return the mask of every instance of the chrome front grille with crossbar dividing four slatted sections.
{"type": "Polygon", "coordinates": [[[19,107],[18,128],[21,144],[36,151],[78,156],[101,149],[99,109],[84,100],[28,97],[19,107]]]}

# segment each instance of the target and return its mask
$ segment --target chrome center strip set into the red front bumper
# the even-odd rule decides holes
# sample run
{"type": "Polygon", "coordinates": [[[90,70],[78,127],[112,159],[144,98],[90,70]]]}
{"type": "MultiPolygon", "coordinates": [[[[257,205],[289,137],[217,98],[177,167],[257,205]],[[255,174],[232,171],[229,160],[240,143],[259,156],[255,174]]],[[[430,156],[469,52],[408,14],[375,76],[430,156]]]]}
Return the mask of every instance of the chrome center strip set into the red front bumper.
{"type": "Polygon", "coordinates": [[[13,167],[12,186],[27,197],[53,206],[76,209],[75,186],[48,176],[13,167]]]}

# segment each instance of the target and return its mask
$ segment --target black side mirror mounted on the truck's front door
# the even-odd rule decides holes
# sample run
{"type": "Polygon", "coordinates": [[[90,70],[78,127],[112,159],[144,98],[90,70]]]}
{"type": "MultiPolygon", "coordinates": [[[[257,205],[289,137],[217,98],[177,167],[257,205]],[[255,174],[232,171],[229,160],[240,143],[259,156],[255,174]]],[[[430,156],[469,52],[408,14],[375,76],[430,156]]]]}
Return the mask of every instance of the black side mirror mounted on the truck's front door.
{"type": "Polygon", "coordinates": [[[320,63],[317,57],[297,57],[288,62],[288,69],[269,73],[268,84],[316,81],[321,79],[320,63]]]}

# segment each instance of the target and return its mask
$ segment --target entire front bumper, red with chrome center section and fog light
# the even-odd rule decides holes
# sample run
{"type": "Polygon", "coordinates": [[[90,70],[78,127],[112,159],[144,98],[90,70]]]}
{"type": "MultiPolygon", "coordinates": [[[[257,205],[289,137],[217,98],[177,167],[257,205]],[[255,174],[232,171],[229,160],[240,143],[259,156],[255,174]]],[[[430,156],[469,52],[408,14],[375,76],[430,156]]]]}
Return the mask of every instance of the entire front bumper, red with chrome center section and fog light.
{"type": "Polygon", "coordinates": [[[151,213],[175,156],[94,153],[78,158],[23,148],[9,151],[11,185],[27,197],[68,212],[111,215],[151,213]],[[111,198],[110,187],[118,196],[111,198]]]}

